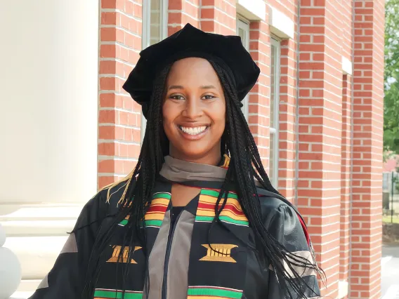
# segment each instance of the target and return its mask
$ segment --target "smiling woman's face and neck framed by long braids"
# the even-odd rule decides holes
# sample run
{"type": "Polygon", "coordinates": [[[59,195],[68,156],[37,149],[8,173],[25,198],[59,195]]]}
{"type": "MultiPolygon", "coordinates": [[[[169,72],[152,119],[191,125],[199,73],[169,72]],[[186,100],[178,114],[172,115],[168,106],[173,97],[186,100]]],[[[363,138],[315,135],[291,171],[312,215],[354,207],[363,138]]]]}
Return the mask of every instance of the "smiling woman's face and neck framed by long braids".
{"type": "Polygon", "coordinates": [[[207,60],[185,58],[172,65],[162,115],[172,157],[218,164],[225,98],[218,75],[207,60]]]}

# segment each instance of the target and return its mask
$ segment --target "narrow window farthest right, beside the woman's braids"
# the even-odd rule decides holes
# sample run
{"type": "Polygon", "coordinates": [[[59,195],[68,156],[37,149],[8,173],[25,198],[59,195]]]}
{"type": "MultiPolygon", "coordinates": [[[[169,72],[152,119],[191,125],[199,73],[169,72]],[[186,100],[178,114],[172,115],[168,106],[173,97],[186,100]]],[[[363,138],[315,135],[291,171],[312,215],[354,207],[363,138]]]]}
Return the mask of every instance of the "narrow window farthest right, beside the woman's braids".
{"type": "Polygon", "coordinates": [[[270,54],[270,157],[269,177],[273,186],[278,187],[278,114],[280,92],[280,42],[271,39],[270,54]]]}

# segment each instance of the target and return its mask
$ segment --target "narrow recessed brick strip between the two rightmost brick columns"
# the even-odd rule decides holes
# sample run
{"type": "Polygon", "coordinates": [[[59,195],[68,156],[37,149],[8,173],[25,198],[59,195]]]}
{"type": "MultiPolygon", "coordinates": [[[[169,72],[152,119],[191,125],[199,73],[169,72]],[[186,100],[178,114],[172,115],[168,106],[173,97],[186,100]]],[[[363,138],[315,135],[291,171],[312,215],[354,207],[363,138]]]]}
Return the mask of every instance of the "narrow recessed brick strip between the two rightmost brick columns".
{"type": "Polygon", "coordinates": [[[341,142],[341,246],[339,254],[339,279],[348,281],[349,225],[352,166],[352,91],[351,76],[344,75],[342,86],[342,142],[341,142]]]}

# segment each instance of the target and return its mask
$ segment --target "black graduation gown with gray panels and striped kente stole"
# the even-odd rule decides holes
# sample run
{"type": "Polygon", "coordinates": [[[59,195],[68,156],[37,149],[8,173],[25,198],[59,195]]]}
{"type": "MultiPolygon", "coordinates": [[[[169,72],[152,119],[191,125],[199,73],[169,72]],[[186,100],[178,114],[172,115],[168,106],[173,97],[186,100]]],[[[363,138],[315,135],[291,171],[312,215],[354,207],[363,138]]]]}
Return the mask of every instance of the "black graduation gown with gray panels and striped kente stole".
{"type": "MultiPolygon", "coordinates": [[[[171,214],[171,182],[157,181],[152,204],[145,215],[147,250],[143,244],[133,248],[131,260],[127,250],[122,263],[128,263],[124,298],[127,299],[277,299],[289,298],[277,283],[273,267],[263,267],[249,245],[254,246],[254,233],[249,226],[237,194],[228,195],[227,204],[219,218],[223,225],[214,225],[208,242],[208,231],[214,218],[218,196],[215,182],[190,182],[199,194],[178,215],[171,214]],[[175,217],[172,219],[172,217],[175,217]],[[174,221],[172,221],[174,220],[174,221]],[[173,222],[173,224],[172,224],[173,222]],[[228,230],[225,229],[228,227],[228,230]],[[211,246],[209,246],[209,244],[211,246]],[[148,254],[149,293],[145,271],[145,252],[148,254]]],[[[123,188],[107,202],[107,190],[96,194],[81,211],[75,229],[55,261],[53,269],[41,281],[30,299],[81,298],[86,270],[94,241],[100,230],[106,230],[106,215],[117,212],[117,201],[123,188]]],[[[312,260],[311,246],[298,212],[284,199],[273,197],[266,190],[261,196],[263,222],[287,251],[312,260]]],[[[117,271],[117,257],[121,250],[127,219],[119,223],[110,241],[92,298],[122,298],[121,274],[117,271]]],[[[319,298],[320,290],[313,270],[298,270],[308,286],[307,298],[319,298]]]]}

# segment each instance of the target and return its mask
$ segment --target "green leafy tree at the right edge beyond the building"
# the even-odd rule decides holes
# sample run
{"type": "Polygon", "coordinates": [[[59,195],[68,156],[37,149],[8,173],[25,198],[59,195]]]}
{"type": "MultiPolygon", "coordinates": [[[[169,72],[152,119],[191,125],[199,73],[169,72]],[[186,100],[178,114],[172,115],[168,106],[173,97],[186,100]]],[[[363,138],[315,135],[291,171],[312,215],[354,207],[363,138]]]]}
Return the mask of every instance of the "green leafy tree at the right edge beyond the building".
{"type": "Polygon", "coordinates": [[[385,13],[384,150],[399,154],[399,0],[385,13]]]}

